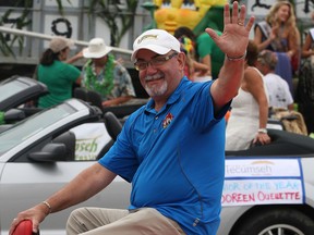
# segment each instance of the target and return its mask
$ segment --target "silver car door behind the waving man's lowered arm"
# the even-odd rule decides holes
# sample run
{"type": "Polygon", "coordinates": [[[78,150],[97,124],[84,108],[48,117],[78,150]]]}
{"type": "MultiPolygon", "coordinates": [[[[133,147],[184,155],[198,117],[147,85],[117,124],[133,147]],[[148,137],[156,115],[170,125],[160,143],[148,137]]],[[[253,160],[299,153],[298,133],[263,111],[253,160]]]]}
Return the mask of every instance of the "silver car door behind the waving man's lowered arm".
{"type": "MultiPolygon", "coordinates": [[[[8,234],[9,226],[16,214],[45,200],[60,189],[84,169],[96,161],[71,162],[8,162],[1,163],[0,185],[0,225],[1,232],[8,234]]],[[[73,191],[75,194],[75,191],[73,191]]],[[[50,214],[43,224],[43,234],[65,234],[67,219],[74,208],[108,207],[126,208],[129,205],[130,184],[117,177],[113,183],[89,200],[50,214]]]]}

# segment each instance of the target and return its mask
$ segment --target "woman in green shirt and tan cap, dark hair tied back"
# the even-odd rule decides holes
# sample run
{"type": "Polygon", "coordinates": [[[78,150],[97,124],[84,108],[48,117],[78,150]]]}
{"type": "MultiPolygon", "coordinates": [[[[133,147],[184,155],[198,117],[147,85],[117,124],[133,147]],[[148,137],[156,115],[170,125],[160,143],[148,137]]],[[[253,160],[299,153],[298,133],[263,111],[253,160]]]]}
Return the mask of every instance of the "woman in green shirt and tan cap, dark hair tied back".
{"type": "Polygon", "coordinates": [[[80,59],[80,55],[64,62],[71,46],[71,40],[55,37],[44,52],[36,75],[39,82],[47,85],[49,94],[38,99],[38,108],[49,108],[72,98],[74,83],[81,85],[81,71],[69,64],[80,59]]]}

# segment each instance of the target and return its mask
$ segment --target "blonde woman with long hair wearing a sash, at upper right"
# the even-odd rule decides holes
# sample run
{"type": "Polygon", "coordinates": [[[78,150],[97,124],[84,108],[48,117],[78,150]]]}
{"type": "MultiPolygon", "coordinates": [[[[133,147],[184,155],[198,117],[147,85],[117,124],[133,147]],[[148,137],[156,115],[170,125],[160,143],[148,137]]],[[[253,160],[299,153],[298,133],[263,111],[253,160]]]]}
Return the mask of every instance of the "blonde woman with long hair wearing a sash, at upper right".
{"type": "Polygon", "coordinates": [[[266,21],[256,24],[254,41],[258,51],[268,49],[277,52],[275,72],[287,81],[293,94],[292,76],[299,69],[301,39],[294,10],[289,1],[278,1],[270,8],[266,21]]]}

